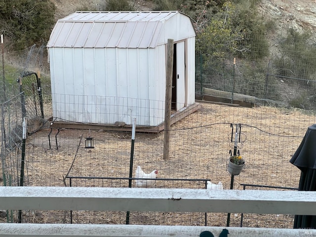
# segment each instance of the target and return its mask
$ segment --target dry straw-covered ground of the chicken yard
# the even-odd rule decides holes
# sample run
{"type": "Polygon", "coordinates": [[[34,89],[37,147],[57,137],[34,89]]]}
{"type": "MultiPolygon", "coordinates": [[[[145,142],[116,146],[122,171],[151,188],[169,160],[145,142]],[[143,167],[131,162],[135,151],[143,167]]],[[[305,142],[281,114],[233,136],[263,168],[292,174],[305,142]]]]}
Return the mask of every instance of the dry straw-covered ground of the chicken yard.
{"type": "MultiPolygon", "coordinates": [[[[145,172],[158,169],[159,178],[222,181],[224,187],[229,189],[231,176],[227,172],[227,160],[229,150],[234,150],[232,130],[235,140],[236,124],[240,123],[237,149],[246,160],[246,166],[240,175],[235,176],[234,189],[242,189],[242,183],[298,187],[300,171],[289,159],[300,145],[307,127],[314,122],[314,115],[300,110],[202,104],[201,110],[172,126],[168,160],[162,159],[163,132],[155,135],[137,133],[133,170],[140,165],[145,172]]],[[[64,186],[63,178],[72,163],[69,176],[128,177],[131,151],[129,133],[61,129],[57,135],[56,150],[57,130],[53,130],[50,136],[51,149],[48,144],[49,131],[42,130],[28,138],[29,185],[64,186]],[[94,138],[94,149],[84,149],[84,137],[89,135],[94,138]],[[83,139],[79,144],[81,136],[83,139]]],[[[69,186],[69,180],[66,181],[69,186]]],[[[128,187],[128,181],[77,179],[73,180],[72,185],[128,187]]],[[[156,187],[203,189],[205,184],[201,181],[158,180],[156,187]]],[[[126,213],[122,212],[74,212],[73,222],[124,224],[125,217],[126,213]]],[[[225,213],[208,213],[207,225],[225,226],[226,218],[225,213]]],[[[233,214],[231,226],[239,226],[240,218],[240,214],[233,214]]],[[[44,223],[70,222],[69,212],[66,219],[63,212],[31,213],[27,219],[44,223]]],[[[204,225],[204,213],[135,212],[131,213],[130,220],[131,224],[204,225]]],[[[244,226],[292,228],[293,218],[288,215],[245,214],[243,223],[244,226]]]]}

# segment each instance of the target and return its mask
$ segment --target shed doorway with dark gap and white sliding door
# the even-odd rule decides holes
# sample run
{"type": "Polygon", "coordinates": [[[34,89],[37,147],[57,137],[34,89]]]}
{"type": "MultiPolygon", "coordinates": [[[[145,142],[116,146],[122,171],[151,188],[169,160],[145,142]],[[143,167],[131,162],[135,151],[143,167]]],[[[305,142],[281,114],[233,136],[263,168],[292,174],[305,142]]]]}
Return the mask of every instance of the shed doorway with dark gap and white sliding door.
{"type": "Polygon", "coordinates": [[[182,41],[173,46],[172,110],[179,111],[185,106],[185,81],[185,43],[182,41]]]}

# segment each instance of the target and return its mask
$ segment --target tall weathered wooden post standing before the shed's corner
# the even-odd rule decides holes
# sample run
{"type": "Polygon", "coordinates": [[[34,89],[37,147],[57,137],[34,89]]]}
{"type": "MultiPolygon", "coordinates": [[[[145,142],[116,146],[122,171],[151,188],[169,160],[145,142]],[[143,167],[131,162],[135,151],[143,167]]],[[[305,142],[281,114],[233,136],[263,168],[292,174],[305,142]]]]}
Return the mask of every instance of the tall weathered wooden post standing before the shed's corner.
{"type": "Polygon", "coordinates": [[[163,137],[163,159],[169,158],[170,153],[170,127],[171,127],[171,89],[173,71],[173,40],[167,43],[167,65],[166,65],[166,95],[164,105],[164,137],[163,137]]]}

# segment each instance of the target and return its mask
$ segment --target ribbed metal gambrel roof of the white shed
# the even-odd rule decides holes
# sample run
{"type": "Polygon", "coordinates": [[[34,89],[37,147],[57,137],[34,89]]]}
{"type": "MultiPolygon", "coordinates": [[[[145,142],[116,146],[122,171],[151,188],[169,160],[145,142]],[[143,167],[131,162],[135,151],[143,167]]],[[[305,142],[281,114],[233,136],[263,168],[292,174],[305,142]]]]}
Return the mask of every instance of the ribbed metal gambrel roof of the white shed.
{"type": "Polygon", "coordinates": [[[186,34],[195,36],[190,18],[178,11],[77,11],[57,21],[47,47],[154,48],[165,43],[165,22],[179,15],[191,25],[186,34]]]}

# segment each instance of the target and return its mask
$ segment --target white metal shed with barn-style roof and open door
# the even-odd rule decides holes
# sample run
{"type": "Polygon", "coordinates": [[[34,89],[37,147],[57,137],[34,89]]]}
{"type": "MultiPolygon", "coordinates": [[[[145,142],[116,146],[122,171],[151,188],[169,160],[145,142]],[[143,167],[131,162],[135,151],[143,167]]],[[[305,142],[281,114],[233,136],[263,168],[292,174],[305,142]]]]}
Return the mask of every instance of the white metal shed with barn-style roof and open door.
{"type": "Polygon", "coordinates": [[[53,117],[86,123],[164,121],[166,44],[174,40],[172,108],[195,103],[195,31],[178,11],[75,12],[47,43],[53,117]]]}

